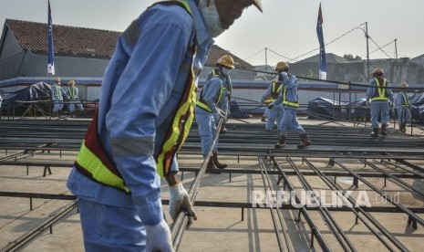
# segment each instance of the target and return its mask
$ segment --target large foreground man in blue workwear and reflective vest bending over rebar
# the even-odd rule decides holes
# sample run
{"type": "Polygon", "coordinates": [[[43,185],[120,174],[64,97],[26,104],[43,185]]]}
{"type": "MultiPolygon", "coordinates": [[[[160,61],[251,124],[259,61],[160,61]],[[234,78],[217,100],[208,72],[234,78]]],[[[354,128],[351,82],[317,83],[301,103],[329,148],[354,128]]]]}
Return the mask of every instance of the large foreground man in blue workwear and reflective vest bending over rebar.
{"type": "Polygon", "coordinates": [[[191,128],[212,38],[249,5],[261,9],[259,0],[157,2],[119,35],[67,180],[78,196],[86,251],[173,251],[161,178],[171,218],[181,211],[197,218],[178,179],[176,152],[191,128]]]}

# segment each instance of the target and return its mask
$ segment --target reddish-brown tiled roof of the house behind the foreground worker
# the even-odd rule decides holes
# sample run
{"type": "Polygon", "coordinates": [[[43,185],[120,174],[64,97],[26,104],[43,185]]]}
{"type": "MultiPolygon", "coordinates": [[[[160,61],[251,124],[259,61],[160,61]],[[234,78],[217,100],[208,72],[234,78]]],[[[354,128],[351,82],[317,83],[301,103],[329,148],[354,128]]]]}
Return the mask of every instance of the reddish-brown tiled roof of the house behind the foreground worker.
{"type": "MultiPolygon", "coordinates": [[[[6,19],[7,26],[22,47],[33,52],[47,53],[47,23],[6,19]]],[[[53,25],[55,54],[60,56],[111,58],[120,32],[74,26],[53,25]]],[[[215,66],[222,55],[231,55],[235,67],[253,69],[253,66],[232,53],[213,45],[206,66],[215,66]]]]}

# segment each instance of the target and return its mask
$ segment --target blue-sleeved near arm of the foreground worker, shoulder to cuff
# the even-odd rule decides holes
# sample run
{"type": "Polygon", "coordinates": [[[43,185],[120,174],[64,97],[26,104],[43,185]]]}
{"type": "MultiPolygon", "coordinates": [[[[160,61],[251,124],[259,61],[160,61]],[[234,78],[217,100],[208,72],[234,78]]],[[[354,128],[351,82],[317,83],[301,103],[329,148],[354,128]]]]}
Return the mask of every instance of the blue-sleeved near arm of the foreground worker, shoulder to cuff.
{"type": "Polygon", "coordinates": [[[140,26],[131,27],[131,34],[119,37],[112,58],[117,65],[109,65],[106,74],[114,79],[114,72],[121,71],[106,117],[113,160],[147,226],[163,219],[160,177],[153,157],[158,116],[169,106],[176,82],[186,81],[188,72],[180,72],[182,63],[191,62],[187,47],[194,36],[192,20],[181,7],[175,8],[182,15],[163,12],[160,16],[151,9],[150,18],[143,16],[138,20],[140,26]],[[130,40],[134,37],[137,40],[130,40]],[[119,61],[128,63],[120,66],[119,61]]]}

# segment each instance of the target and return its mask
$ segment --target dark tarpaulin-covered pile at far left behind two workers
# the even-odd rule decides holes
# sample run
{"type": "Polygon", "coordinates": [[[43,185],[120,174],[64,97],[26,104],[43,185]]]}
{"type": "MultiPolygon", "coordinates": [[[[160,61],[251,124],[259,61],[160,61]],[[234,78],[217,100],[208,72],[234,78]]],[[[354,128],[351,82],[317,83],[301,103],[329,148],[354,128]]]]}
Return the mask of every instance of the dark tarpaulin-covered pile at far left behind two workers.
{"type": "Polygon", "coordinates": [[[45,82],[32,84],[16,92],[3,93],[2,110],[14,109],[16,101],[50,100],[51,85],[45,82]]]}

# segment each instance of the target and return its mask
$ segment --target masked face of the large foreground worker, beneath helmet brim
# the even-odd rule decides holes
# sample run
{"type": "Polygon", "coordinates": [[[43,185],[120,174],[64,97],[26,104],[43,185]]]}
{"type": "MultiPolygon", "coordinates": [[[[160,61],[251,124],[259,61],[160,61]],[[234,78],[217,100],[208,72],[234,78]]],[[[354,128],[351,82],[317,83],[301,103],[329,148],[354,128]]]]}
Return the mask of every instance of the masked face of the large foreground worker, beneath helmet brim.
{"type": "Polygon", "coordinates": [[[199,9],[211,37],[218,37],[233,25],[252,0],[200,0],[199,9]],[[209,5],[208,5],[209,4],[209,5]]]}

